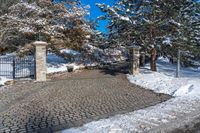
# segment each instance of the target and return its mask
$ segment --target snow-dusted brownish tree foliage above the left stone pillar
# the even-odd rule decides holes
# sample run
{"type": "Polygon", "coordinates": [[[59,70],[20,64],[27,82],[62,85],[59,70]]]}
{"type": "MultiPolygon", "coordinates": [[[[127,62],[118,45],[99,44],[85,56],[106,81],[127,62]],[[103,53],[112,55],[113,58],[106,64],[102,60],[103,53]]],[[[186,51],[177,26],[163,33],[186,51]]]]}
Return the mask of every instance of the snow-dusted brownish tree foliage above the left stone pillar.
{"type": "MultiPolygon", "coordinates": [[[[67,4],[52,4],[45,0],[14,4],[6,14],[0,16],[0,46],[13,45],[8,44],[14,41],[13,38],[6,34],[19,34],[21,40],[24,38],[24,43],[29,43],[37,39],[39,32],[46,38],[45,41],[56,43],[56,40],[65,40],[62,41],[63,45],[81,45],[87,39],[86,36],[93,32],[85,19],[89,14],[89,6],[67,4]]],[[[19,44],[21,41],[16,43],[23,45],[19,44]]]]}

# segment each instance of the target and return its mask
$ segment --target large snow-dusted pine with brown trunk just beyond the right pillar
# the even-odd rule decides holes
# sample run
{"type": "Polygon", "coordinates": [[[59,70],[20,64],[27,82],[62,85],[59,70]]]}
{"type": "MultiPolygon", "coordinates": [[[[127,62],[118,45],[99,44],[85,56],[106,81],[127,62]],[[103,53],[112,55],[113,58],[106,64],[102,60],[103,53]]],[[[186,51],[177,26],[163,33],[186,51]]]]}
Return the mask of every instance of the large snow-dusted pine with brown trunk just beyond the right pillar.
{"type": "Polygon", "coordinates": [[[141,46],[151,55],[151,70],[156,71],[157,41],[166,34],[161,29],[168,15],[164,12],[165,5],[156,0],[120,0],[113,7],[99,7],[111,20],[111,36],[122,38],[125,45],[141,46]]]}

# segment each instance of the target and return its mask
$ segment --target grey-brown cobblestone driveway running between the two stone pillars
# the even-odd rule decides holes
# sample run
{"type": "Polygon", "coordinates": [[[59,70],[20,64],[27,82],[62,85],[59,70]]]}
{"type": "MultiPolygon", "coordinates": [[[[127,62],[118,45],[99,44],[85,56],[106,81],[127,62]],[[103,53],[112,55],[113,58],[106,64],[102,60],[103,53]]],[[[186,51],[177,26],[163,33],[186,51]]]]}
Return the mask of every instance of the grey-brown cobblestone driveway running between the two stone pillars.
{"type": "Polygon", "coordinates": [[[124,74],[90,70],[59,77],[0,91],[0,133],[50,133],[170,98],[130,84],[124,74]]]}

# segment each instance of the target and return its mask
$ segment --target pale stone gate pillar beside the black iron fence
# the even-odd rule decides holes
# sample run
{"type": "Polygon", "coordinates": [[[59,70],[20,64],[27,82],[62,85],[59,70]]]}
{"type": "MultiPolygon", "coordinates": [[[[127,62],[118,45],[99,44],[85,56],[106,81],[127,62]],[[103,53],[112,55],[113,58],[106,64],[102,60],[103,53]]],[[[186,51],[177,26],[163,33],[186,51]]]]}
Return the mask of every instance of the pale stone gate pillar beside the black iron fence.
{"type": "Polygon", "coordinates": [[[46,81],[47,65],[46,65],[46,46],[47,43],[43,41],[36,41],[35,46],[35,77],[36,81],[46,81]]]}

